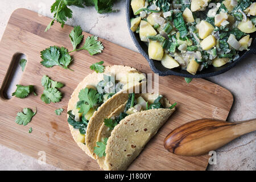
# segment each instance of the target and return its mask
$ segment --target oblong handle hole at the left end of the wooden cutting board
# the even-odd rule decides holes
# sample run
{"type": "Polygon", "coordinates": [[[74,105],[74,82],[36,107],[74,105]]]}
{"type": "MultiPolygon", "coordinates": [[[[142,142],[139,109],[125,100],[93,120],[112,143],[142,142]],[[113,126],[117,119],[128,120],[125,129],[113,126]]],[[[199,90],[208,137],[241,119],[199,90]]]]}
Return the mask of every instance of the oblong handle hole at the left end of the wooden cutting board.
{"type": "MultiPolygon", "coordinates": [[[[3,84],[1,86],[1,99],[10,100],[11,94],[15,92],[16,84],[19,84],[22,78],[22,67],[19,65],[21,59],[26,59],[26,55],[23,53],[15,53],[7,69],[3,84]]],[[[28,64],[28,61],[26,65],[28,64]]],[[[25,70],[24,70],[25,71],[25,70]]]]}

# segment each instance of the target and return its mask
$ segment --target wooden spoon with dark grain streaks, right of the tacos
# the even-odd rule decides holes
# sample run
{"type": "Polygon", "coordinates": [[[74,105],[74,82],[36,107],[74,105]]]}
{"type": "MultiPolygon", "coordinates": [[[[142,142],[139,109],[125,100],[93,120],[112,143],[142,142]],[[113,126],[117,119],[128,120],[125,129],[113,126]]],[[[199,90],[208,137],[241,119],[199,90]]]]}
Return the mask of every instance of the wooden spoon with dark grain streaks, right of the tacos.
{"type": "Polygon", "coordinates": [[[164,139],[164,148],[176,155],[204,155],[255,130],[256,119],[242,122],[199,119],[174,129],[164,139]]]}

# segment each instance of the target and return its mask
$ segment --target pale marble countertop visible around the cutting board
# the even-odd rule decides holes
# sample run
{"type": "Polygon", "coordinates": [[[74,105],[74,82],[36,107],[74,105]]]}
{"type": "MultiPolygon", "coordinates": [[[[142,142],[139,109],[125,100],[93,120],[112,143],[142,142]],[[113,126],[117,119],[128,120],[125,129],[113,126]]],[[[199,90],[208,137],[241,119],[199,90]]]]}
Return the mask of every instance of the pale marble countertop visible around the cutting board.
{"type": "MultiPolygon", "coordinates": [[[[1,0],[0,39],[11,13],[18,8],[26,8],[52,17],[50,6],[54,0],[1,0]]],[[[125,1],[115,3],[117,13],[97,14],[94,7],[72,7],[73,18],[67,24],[80,25],[83,31],[99,36],[138,52],[127,30],[125,1]]],[[[256,55],[250,55],[230,71],[206,78],[230,90],[234,104],[228,121],[236,122],[256,118],[256,55]]],[[[239,137],[216,150],[217,164],[208,165],[207,170],[256,170],[256,132],[239,137]]],[[[0,145],[0,170],[61,170],[49,164],[39,164],[38,160],[0,145]]]]}

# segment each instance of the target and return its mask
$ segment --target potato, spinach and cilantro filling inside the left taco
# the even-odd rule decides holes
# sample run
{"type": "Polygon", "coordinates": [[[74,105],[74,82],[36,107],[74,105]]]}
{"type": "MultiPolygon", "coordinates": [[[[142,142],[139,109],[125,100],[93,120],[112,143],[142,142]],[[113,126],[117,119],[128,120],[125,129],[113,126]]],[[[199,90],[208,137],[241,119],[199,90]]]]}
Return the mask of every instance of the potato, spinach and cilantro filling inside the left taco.
{"type": "Polygon", "coordinates": [[[98,82],[97,87],[88,85],[80,90],[79,101],[75,109],[68,111],[68,123],[74,129],[79,129],[82,143],[84,143],[86,128],[94,111],[123,88],[123,84],[115,80],[115,76],[104,74],[103,77],[104,80],[98,82]]]}

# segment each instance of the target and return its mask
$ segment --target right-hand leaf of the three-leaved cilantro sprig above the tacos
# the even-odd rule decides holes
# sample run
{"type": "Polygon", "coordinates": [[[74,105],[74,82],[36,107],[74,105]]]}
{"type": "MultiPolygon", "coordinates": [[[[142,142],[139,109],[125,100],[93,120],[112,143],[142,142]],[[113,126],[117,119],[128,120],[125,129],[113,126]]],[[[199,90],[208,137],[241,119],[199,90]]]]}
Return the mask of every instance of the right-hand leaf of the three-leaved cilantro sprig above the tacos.
{"type": "Polygon", "coordinates": [[[90,55],[95,55],[96,53],[101,53],[104,46],[100,41],[98,41],[97,36],[92,35],[86,38],[85,44],[81,49],[87,50],[90,55]]]}

